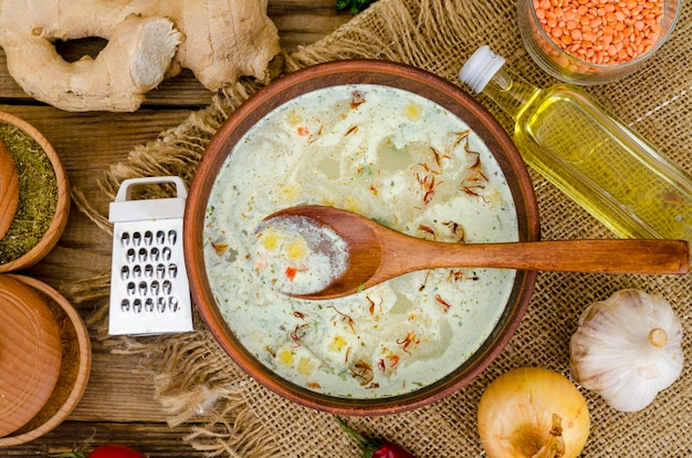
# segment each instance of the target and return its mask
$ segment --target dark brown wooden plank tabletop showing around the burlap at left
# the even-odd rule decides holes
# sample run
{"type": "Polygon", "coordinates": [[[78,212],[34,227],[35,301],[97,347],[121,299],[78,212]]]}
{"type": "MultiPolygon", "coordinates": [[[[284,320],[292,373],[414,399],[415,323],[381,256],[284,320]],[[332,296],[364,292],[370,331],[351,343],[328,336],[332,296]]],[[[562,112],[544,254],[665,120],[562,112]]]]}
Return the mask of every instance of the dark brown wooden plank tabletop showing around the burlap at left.
{"type": "MultiPolygon", "coordinates": [[[[270,0],[269,15],[280,30],[286,49],[312,43],[328,34],[350,15],[335,9],[336,0],[270,0]]],[[[97,52],[103,42],[66,43],[61,53],[77,59],[97,52]]],[[[212,93],[184,73],[151,91],[135,113],[67,113],[38,103],[22,92],[7,72],[0,52],[0,111],[33,124],[51,142],[67,171],[71,185],[84,192],[107,215],[109,199],[97,186],[111,165],[124,160],[137,145],[155,140],[159,133],[176,127],[190,113],[206,106],[212,93]]],[[[28,274],[61,292],[77,280],[108,272],[111,238],[74,209],[67,228],[53,251],[28,274]]],[[[80,305],[86,318],[92,305],[80,305]]],[[[92,339],[93,367],[86,392],[73,414],[46,436],[30,444],[0,449],[2,457],[49,457],[75,445],[120,443],[149,457],[201,457],[180,438],[188,428],[170,428],[154,399],[151,381],[137,376],[139,358],[112,354],[92,339]]]]}

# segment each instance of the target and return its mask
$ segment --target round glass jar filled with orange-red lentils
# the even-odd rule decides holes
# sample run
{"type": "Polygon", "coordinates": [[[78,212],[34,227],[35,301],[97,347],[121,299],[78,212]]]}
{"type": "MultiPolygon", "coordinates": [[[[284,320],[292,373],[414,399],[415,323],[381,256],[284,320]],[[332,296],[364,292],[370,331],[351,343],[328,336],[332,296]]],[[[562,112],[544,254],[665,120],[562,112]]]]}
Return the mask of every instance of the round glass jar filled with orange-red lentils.
{"type": "Polygon", "coordinates": [[[671,34],[680,0],[518,0],[528,54],[567,83],[616,81],[641,67],[671,34]]]}

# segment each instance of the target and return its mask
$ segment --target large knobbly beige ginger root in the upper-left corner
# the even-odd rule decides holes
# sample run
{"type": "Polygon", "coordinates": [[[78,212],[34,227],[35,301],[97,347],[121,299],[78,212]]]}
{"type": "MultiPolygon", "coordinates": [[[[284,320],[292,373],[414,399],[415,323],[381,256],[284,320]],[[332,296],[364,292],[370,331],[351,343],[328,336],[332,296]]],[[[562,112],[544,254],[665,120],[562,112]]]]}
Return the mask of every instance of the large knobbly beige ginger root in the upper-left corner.
{"type": "Polygon", "coordinates": [[[210,91],[265,81],[281,52],[266,0],[0,0],[0,46],[29,95],[72,112],[133,112],[184,67],[210,91]],[[53,45],[90,37],[107,40],[95,59],[53,45]]]}

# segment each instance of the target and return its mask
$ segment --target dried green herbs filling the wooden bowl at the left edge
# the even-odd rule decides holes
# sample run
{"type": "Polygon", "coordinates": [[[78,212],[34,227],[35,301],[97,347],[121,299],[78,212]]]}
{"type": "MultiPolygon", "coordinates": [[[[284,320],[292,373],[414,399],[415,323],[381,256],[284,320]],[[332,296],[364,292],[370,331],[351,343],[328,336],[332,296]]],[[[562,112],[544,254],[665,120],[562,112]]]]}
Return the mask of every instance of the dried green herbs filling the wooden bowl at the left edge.
{"type": "Polygon", "coordinates": [[[19,204],[12,223],[0,239],[0,264],[28,253],[43,238],[57,208],[57,179],[50,158],[29,134],[0,123],[19,177],[19,204]]]}

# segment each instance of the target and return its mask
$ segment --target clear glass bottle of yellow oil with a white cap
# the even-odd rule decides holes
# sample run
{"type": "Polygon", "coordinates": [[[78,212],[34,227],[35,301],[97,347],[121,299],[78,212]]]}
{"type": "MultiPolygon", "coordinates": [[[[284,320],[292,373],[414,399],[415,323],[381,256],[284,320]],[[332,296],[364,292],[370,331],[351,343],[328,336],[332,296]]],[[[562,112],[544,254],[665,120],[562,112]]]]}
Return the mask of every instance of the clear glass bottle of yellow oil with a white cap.
{"type": "Polygon", "coordinates": [[[621,238],[692,241],[692,179],[570,84],[541,90],[481,46],[459,77],[515,123],[524,160],[621,238]]]}

